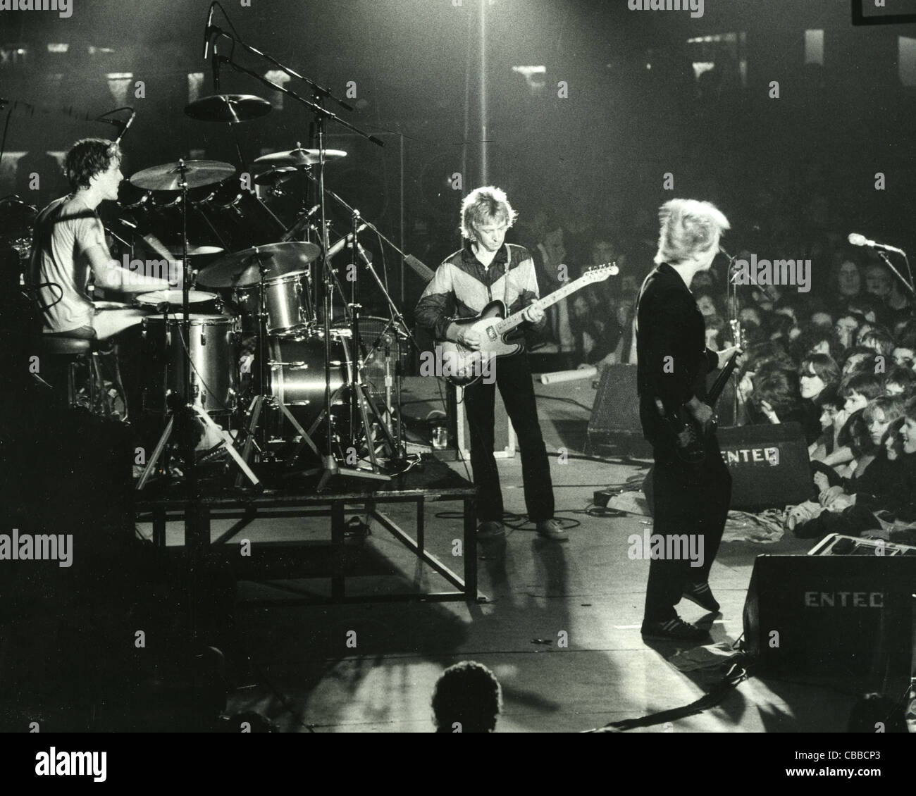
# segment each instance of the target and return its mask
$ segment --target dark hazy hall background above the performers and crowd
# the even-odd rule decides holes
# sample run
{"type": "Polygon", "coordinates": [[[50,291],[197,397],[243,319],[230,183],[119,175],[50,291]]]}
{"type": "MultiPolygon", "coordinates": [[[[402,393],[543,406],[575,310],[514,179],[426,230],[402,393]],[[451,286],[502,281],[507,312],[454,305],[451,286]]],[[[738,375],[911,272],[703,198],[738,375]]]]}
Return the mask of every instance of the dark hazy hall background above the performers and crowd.
{"type": "MultiPolygon", "coordinates": [[[[707,0],[700,18],[630,11],[625,0],[454,2],[225,3],[250,44],[339,95],[355,83],[357,110],[342,113],[387,147],[331,125],[329,145],[350,156],[329,168],[328,185],[431,267],[458,244],[459,204],[482,180],[509,192],[518,239],[539,211],[587,218],[636,254],[630,262],[654,253],[655,211],[672,196],[717,202],[733,219],[735,248],[751,234],[788,245],[786,230],[799,226],[909,248],[916,26],[853,27],[845,0],[707,0]],[[673,191],[663,189],[666,172],[673,191]],[[886,190],[876,191],[876,172],[886,190]]],[[[5,11],[0,94],[80,115],[134,105],[128,176],[179,157],[236,162],[232,130],[182,113],[213,93],[201,58],[206,12],[202,0],[73,0],[69,18],[5,11]]],[[[227,27],[218,12],[214,22],[227,27]]],[[[311,116],[289,98],[229,69],[222,91],[275,103],[235,127],[246,160],[308,141],[311,116]]],[[[0,195],[39,207],[66,192],[46,153],[82,136],[114,137],[112,127],[63,114],[7,113],[0,195]],[[29,190],[32,172],[38,191],[29,190]]],[[[392,292],[410,310],[420,281],[408,271],[402,292],[393,255],[392,292]]],[[[585,257],[573,247],[575,256],[585,257]]]]}

